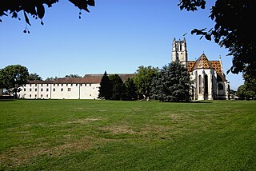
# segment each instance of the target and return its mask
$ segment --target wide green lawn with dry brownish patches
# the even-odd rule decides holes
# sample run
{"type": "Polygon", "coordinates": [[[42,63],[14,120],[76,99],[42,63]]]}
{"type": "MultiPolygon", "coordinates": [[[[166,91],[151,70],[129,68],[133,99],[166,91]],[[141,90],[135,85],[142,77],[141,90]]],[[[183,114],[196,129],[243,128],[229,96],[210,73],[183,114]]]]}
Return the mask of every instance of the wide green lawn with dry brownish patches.
{"type": "Polygon", "coordinates": [[[0,170],[256,170],[256,101],[0,101],[0,170]]]}

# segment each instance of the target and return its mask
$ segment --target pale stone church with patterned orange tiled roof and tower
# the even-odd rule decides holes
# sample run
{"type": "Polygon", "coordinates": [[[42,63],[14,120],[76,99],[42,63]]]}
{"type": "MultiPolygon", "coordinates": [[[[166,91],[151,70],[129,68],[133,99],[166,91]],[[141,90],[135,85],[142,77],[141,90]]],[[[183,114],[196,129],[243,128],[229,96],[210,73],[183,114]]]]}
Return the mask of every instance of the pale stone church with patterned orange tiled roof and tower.
{"type": "Polygon", "coordinates": [[[230,84],[223,73],[222,61],[209,61],[206,54],[202,54],[197,60],[189,61],[186,50],[186,39],[174,38],[171,61],[179,61],[190,72],[193,82],[191,93],[193,100],[229,99],[230,84]]]}

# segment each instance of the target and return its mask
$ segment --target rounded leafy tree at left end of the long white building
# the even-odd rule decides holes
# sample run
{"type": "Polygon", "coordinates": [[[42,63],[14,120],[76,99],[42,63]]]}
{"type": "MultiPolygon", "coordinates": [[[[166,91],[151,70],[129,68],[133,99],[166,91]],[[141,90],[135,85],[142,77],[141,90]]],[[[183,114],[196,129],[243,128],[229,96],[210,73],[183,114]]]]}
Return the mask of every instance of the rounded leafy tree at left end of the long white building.
{"type": "Polygon", "coordinates": [[[20,87],[26,85],[28,78],[29,72],[25,66],[6,66],[0,70],[0,88],[10,89],[17,98],[20,87]]]}

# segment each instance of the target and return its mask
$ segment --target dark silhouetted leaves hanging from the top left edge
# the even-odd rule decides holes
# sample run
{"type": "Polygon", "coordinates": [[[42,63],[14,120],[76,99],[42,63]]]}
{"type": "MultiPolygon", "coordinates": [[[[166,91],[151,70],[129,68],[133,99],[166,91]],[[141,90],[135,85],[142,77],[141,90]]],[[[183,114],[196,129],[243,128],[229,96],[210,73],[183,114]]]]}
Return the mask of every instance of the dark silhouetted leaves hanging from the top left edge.
{"type": "MultiPolygon", "coordinates": [[[[57,3],[58,0],[22,0],[22,1],[10,1],[10,0],[2,0],[0,1],[0,17],[3,15],[10,16],[11,18],[19,18],[19,13],[22,13],[24,19],[28,25],[30,24],[30,19],[28,14],[30,14],[35,19],[40,19],[41,24],[43,25],[42,18],[45,16],[45,7],[52,7],[54,3],[57,3]]],[[[81,10],[88,10],[88,6],[95,6],[94,0],[69,0],[69,2],[73,3],[74,6],[77,6],[80,9],[79,18],[81,18],[81,10]]],[[[0,19],[0,22],[2,20],[0,19]]],[[[24,30],[24,33],[30,33],[29,30],[24,30]]]]}

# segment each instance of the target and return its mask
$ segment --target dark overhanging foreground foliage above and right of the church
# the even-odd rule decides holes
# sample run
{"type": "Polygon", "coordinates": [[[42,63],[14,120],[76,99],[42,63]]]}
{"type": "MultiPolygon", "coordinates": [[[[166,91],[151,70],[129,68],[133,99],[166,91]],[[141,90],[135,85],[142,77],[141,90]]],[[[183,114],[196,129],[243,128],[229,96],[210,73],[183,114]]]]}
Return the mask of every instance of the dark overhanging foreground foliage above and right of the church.
{"type": "MultiPolygon", "coordinates": [[[[178,6],[181,10],[204,9],[206,0],[181,0],[178,6]]],[[[207,40],[218,43],[229,50],[233,56],[230,70],[234,74],[250,71],[256,74],[256,25],[250,19],[256,16],[254,0],[234,1],[216,0],[210,9],[210,19],[215,22],[214,28],[194,29],[192,34],[198,34],[207,40]]],[[[202,38],[201,37],[201,38],[202,38]]],[[[228,72],[229,72],[228,71],[228,72]]]]}

